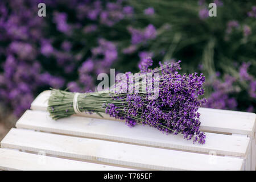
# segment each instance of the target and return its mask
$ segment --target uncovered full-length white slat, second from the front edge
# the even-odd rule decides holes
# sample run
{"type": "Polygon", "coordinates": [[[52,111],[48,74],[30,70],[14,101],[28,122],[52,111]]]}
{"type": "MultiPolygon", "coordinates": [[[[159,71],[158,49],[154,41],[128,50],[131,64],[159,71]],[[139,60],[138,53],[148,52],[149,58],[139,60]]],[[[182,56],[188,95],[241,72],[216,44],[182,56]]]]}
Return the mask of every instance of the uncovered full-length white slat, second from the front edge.
{"type": "Polygon", "coordinates": [[[11,129],[1,147],[143,169],[241,170],[243,160],[105,140],[11,129]]]}

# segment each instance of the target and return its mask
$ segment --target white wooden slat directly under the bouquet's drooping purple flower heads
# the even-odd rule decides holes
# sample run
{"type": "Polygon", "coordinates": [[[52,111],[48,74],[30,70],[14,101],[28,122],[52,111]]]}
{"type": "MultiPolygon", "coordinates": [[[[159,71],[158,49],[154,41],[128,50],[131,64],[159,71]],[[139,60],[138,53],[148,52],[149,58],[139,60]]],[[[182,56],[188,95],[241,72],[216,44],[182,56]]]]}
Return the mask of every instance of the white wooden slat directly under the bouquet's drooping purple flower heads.
{"type": "Polygon", "coordinates": [[[182,135],[166,135],[149,126],[138,125],[131,129],[120,121],[76,116],[54,121],[46,111],[27,110],[16,127],[207,154],[214,151],[217,155],[245,157],[249,150],[249,138],[246,137],[206,133],[205,144],[193,144],[192,140],[184,140],[182,135]]]}

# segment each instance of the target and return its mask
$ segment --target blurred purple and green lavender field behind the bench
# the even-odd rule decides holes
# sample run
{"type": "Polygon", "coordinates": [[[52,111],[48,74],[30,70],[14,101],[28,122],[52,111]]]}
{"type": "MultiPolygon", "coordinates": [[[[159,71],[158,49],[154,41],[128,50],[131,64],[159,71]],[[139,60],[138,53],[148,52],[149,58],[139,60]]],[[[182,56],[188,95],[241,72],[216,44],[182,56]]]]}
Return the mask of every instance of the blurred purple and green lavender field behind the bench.
{"type": "Polygon", "coordinates": [[[1,0],[0,118],[50,87],[86,92],[110,68],[137,72],[147,56],[204,73],[205,107],[255,112],[256,5],[215,0],[209,17],[210,2],[1,0]]]}

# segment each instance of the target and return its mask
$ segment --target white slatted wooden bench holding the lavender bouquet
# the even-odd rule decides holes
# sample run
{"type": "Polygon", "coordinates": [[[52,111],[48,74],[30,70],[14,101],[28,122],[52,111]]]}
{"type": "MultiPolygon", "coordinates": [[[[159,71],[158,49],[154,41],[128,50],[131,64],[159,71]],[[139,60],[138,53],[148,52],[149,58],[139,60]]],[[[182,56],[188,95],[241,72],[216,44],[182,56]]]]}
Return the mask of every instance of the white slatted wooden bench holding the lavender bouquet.
{"type": "Polygon", "coordinates": [[[201,108],[205,144],[97,114],[57,121],[41,93],[1,142],[0,169],[255,170],[255,114],[201,108]]]}

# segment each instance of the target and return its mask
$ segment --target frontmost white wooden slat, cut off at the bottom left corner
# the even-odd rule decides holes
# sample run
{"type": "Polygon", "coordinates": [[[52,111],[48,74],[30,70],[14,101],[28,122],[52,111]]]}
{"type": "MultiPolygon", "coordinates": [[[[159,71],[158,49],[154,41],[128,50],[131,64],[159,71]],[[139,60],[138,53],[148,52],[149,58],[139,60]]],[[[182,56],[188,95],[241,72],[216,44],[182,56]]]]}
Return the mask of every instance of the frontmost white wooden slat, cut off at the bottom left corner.
{"type": "Polygon", "coordinates": [[[107,166],[102,164],[86,163],[76,160],[53,158],[29,154],[0,148],[0,170],[22,170],[22,171],[120,171],[133,170],[122,167],[107,166]]]}

